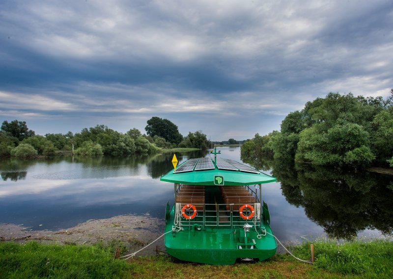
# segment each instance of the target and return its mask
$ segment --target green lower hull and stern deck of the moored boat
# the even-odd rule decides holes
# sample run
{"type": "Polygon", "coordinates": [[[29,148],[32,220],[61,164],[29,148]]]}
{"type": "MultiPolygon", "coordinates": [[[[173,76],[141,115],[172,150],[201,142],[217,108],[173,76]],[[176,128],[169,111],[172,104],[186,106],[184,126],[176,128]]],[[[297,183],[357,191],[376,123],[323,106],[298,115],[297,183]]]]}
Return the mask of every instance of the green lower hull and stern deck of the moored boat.
{"type": "MultiPolygon", "coordinates": [[[[169,213],[166,232],[172,230],[174,210],[169,213]]],[[[253,222],[250,222],[253,225],[253,222]]],[[[270,226],[263,224],[270,234],[270,226]]],[[[198,230],[199,226],[191,221],[182,224],[183,230],[165,235],[165,245],[169,255],[184,261],[212,264],[230,265],[237,259],[251,258],[265,260],[276,253],[277,244],[272,235],[266,234],[257,238],[258,232],[253,227],[250,232],[245,232],[243,227],[207,226],[198,230]]]]}

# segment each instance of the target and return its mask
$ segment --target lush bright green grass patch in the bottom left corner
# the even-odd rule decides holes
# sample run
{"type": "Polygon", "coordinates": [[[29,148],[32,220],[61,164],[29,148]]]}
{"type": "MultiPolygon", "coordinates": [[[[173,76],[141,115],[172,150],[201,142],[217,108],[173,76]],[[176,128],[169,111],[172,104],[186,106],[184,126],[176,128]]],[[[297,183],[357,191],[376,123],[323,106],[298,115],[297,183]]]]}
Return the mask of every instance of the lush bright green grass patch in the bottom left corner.
{"type": "Polygon", "coordinates": [[[125,278],[130,269],[99,246],[0,243],[1,278],[125,278]]]}

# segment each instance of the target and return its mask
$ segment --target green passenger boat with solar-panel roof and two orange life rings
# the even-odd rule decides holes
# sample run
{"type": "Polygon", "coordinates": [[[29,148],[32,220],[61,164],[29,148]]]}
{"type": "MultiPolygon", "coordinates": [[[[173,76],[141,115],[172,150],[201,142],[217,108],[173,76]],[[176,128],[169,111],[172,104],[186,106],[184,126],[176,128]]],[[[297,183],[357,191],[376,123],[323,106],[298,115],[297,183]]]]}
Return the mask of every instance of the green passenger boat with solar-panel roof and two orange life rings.
{"type": "Polygon", "coordinates": [[[213,265],[273,256],[277,244],[261,184],[276,178],[210,152],[214,160],[191,159],[160,178],[174,183],[174,204],[165,213],[168,254],[213,265]]]}

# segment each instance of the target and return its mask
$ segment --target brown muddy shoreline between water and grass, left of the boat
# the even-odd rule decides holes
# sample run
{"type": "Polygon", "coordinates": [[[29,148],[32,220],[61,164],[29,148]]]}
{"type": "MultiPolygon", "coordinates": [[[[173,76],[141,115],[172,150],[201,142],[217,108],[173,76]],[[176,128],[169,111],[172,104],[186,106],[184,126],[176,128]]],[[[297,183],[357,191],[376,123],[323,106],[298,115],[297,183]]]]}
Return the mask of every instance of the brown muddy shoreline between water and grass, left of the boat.
{"type": "MultiPolygon", "coordinates": [[[[0,223],[0,241],[31,241],[56,244],[91,245],[122,242],[131,252],[140,250],[164,233],[165,221],[149,215],[120,215],[108,219],[89,220],[67,229],[31,230],[22,225],[0,223]]],[[[166,253],[164,238],[137,255],[166,253]]]]}

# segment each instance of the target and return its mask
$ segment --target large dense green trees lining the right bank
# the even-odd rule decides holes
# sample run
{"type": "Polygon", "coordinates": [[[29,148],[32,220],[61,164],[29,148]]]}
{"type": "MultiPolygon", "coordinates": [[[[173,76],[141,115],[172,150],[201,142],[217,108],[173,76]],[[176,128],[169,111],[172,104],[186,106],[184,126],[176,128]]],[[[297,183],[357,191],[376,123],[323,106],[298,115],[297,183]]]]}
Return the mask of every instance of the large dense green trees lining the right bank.
{"type": "Polygon", "coordinates": [[[393,167],[393,88],[383,97],[332,93],[289,113],[281,131],[256,134],[241,147],[246,160],[275,159],[324,166],[393,167]]]}

